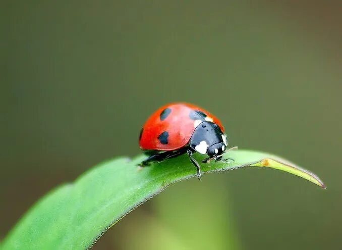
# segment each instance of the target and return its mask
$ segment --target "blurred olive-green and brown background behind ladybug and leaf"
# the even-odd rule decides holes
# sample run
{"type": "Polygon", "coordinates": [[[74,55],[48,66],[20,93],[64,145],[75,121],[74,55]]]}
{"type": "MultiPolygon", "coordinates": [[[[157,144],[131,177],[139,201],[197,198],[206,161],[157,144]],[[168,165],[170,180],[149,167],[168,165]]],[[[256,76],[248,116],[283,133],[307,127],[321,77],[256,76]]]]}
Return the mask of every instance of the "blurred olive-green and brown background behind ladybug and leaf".
{"type": "Polygon", "coordinates": [[[139,153],[168,102],[286,157],[169,187],[94,249],[337,249],[342,231],[339,1],[3,1],[0,238],[48,190],[139,153]]]}

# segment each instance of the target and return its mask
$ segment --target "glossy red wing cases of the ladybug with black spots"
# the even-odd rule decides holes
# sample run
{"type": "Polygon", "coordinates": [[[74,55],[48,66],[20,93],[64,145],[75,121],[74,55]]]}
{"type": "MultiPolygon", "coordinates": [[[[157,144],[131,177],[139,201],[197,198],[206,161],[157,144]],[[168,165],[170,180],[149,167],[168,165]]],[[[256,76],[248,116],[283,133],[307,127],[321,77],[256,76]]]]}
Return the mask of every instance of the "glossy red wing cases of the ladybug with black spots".
{"type": "Polygon", "coordinates": [[[204,113],[224,132],[221,122],[208,111],[188,103],[171,103],[160,107],[147,119],[140,133],[140,148],[173,151],[187,145],[195,130],[195,121],[190,118],[192,111],[204,113]],[[161,143],[158,139],[158,136],[165,131],[168,133],[167,144],[161,143]]]}

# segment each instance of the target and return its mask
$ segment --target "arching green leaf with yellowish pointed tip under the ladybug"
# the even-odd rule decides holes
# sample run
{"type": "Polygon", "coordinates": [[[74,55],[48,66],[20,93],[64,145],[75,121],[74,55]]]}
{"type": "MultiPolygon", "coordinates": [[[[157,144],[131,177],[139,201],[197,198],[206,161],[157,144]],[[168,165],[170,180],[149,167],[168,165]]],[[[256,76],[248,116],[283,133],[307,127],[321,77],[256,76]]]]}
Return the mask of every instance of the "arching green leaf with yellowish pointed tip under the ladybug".
{"type": "MultiPolygon", "coordinates": [[[[325,188],[313,173],[278,157],[254,151],[225,153],[231,163],[201,164],[202,173],[242,167],[269,167],[307,179],[325,188]]],[[[40,199],[3,242],[4,249],[84,249],[125,215],[168,185],[196,177],[186,155],[140,168],[145,156],[101,163],[72,184],[62,185],[40,199]]],[[[195,154],[200,161],[203,156],[195,154]]],[[[202,183],[205,185],[205,176],[202,183]]]]}

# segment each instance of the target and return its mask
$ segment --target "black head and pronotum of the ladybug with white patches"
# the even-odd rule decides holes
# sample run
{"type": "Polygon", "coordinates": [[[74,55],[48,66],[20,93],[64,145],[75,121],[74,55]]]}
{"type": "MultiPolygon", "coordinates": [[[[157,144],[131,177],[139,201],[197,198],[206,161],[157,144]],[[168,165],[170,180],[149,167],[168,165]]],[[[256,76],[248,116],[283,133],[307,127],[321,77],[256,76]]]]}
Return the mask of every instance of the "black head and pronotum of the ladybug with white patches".
{"type": "Polygon", "coordinates": [[[195,128],[189,145],[200,154],[215,157],[223,154],[227,139],[217,124],[204,121],[195,128]]]}

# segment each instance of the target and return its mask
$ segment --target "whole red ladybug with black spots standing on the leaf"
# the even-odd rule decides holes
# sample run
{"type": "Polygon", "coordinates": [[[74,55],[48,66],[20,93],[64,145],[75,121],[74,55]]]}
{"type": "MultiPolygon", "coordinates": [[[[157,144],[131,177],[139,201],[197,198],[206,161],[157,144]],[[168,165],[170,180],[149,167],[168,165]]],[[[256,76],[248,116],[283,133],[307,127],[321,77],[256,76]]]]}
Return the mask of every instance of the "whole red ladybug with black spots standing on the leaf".
{"type": "Polygon", "coordinates": [[[192,104],[172,103],[159,108],[147,119],[140,131],[139,145],[148,156],[139,166],[186,153],[200,180],[200,165],[193,154],[208,155],[202,163],[225,161],[222,155],[228,141],[221,122],[215,116],[192,104]]]}

